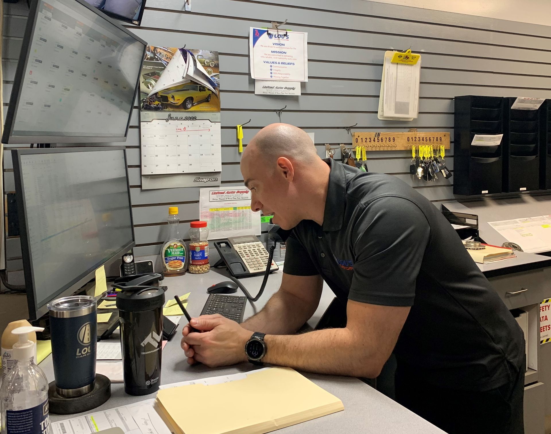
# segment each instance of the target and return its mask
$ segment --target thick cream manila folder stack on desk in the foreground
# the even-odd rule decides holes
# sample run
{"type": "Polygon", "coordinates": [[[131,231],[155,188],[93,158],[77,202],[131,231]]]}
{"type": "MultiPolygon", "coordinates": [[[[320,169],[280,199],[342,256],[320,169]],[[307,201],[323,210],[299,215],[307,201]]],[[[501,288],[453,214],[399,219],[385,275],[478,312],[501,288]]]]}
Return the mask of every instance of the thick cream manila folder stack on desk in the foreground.
{"type": "Polygon", "coordinates": [[[156,408],[176,434],[262,434],[344,410],[340,399],[284,367],[159,390],[156,408]]]}

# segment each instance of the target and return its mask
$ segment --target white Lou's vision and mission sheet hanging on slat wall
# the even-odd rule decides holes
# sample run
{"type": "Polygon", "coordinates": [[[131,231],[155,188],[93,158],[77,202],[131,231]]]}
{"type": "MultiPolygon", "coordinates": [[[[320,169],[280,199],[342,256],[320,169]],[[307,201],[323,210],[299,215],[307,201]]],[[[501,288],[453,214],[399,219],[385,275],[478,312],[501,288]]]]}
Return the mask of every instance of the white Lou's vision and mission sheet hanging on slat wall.
{"type": "Polygon", "coordinates": [[[308,34],[251,27],[251,77],[285,82],[308,81],[308,34]]]}

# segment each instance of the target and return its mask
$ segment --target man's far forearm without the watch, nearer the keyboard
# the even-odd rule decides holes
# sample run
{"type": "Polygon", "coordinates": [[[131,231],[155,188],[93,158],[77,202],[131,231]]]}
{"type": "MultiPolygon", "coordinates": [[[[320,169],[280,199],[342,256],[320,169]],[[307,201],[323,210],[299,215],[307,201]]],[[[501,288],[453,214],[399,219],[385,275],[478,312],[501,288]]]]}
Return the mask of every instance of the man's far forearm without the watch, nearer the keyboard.
{"type": "Polygon", "coordinates": [[[279,290],[255,316],[241,327],[266,334],[295,333],[314,314],[317,306],[305,306],[304,300],[279,290]]]}

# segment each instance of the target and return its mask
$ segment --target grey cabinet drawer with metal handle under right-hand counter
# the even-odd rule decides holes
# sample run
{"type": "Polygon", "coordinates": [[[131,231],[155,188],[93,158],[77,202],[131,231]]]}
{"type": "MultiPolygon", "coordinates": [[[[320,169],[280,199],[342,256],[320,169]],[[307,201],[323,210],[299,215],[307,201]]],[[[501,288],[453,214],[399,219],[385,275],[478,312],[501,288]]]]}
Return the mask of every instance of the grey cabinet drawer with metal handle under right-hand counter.
{"type": "Polygon", "coordinates": [[[505,274],[488,279],[509,309],[539,304],[551,297],[551,268],[505,274]]]}

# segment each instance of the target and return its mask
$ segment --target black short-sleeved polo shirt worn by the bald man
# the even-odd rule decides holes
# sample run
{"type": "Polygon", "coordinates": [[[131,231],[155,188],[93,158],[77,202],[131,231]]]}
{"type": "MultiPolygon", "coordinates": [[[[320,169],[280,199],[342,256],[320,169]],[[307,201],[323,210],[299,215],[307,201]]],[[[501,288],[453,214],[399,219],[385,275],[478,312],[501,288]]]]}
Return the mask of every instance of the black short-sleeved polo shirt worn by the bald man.
{"type": "Polygon", "coordinates": [[[522,330],[440,211],[394,176],[325,161],[323,225],[295,227],[284,272],[321,274],[344,302],[411,306],[394,352],[423,381],[481,391],[510,381],[522,330]]]}

